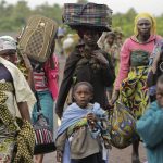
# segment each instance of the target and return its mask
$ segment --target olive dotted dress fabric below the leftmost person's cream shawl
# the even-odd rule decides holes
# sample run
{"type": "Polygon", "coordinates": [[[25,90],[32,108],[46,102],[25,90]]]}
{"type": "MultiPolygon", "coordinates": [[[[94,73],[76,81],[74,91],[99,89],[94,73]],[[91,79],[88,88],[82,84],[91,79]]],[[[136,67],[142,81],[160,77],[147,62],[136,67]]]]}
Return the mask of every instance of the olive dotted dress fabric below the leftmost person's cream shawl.
{"type": "MultiPolygon", "coordinates": [[[[35,145],[34,129],[28,122],[23,122],[20,129],[16,118],[13,117],[8,109],[8,96],[5,91],[14,91],[11,83],[0,83],[0,127],[4,126],[4,129],[3,129],[3,135],[4,131],[7,133],[4,137],[0,137],[0,159],[3,161],[14,159],[12,161],[13,163],[33,163],[35,145]]],[[[2,134],[0,136],[3,136],[2,134]]]]}

